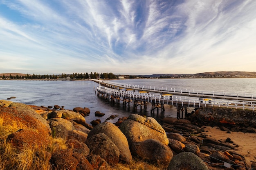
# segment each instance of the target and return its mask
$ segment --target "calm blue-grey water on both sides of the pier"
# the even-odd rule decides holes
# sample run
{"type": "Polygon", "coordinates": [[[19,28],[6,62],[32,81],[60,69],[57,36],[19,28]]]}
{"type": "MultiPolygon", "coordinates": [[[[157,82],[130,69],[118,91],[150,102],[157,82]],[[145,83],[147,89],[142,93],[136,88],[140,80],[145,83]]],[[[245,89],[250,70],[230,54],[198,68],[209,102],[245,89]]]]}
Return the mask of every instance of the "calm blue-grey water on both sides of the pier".
{"type": "MultiPolygon", "coordinates": [[[[199,79],[132,79],[132,80],[114,80],[119,83],[128,83],[135,85],[147,85],[155,87],[175,87],[182,89],[195,90],[214,90],[214,91],[236,91],[251,92],[256,94],[256,78],[199,78],[199,79]]],[[[65,106],[65,109],[74,107],[88,107],[91,111],[86,116],[86,122],[95,120],[95,111],[106,113],[101,117],[101,122],[106,120],[110,115],[119,115],[119,117],[129,116],[135,113],[128,107],[123,108],[120,105],[111,106],[109,102],[97,97],[94,87],[98,86],[93,81],[8,81],[0,80],[0,100],[6,100],[11,96],[13,102],[22,102],[27,105],[38,106],[65,106]]],[[[165,116],[176,116],[176,108],[170,105],[165,106],[164,113],[151,115],[151,104],[148,103],[148,109],[140,112],[138,107],[137,113],[146,116],[153,116],[156,119],[165,116]]]]}

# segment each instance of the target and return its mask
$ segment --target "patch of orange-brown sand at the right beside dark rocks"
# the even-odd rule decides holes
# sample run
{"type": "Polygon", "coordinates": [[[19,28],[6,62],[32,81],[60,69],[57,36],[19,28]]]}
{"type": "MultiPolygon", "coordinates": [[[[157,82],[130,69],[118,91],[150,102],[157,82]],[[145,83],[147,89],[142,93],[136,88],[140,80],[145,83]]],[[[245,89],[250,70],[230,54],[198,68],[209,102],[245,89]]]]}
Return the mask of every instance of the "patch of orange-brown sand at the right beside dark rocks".
{"type": "Polygon", "coordinates": [[[251,165],[252,161],[256,162],[256,134],[255,133],[243,133],[243,132],[231,132],[221,131],[218,127],[204,126],[205,133],[209,137],[214,137],[217,140],[225,142],[227,137],[229,137],[234,144],[238,147],[235,151],[243,155],[246,162],[251,165]]]}

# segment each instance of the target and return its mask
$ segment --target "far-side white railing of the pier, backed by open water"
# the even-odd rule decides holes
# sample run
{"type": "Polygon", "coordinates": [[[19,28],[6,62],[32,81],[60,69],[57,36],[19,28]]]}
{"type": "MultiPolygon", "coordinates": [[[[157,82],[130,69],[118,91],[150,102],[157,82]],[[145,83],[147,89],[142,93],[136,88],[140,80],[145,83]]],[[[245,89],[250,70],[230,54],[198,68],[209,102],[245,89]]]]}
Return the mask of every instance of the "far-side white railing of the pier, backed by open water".
{"type": "MultiPolygon", "coordinates": [[[[99,82],[99,80],[94,80],[99,82]]],[[[113,85],[117,87],[123,87],[126,89],[136,89],[139,91],[148,91],[148,92],[158,92],[166,94],[175,94],[182,96],[197,96],[205,98],[220,98],[220,99],[231,99],[231,100],[249,100],[256,102],[256,94],[249,92],[229,92],[229,91],[203,91],[203,90],[194,90],[194,89],[181,89],[173,87],[155,87],[155,86],[145,86],[145,85],[132,85],[126,83],[115,83],[111,81],[100,81],[101,83],[106,83],[108,85],[113,85]]]]}

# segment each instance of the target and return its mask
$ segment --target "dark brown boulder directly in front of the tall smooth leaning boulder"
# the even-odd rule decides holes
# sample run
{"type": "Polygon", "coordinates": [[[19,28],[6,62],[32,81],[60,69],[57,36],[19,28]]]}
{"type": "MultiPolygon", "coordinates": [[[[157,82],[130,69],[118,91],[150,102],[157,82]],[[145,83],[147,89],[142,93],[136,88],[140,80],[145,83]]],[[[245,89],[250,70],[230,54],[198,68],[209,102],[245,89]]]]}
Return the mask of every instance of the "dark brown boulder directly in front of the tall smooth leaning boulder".
{"type": "MultiPolygon", "coordinates": [[[[89,133],[90,134],[90,133],[89,133]]],[[[90,154],[99,155],[105,159],[110,166],[114,166],[119,161],[119,148],[104,133],[99,133],[89,137],[86,145],[90,148],[90,154]]]]}

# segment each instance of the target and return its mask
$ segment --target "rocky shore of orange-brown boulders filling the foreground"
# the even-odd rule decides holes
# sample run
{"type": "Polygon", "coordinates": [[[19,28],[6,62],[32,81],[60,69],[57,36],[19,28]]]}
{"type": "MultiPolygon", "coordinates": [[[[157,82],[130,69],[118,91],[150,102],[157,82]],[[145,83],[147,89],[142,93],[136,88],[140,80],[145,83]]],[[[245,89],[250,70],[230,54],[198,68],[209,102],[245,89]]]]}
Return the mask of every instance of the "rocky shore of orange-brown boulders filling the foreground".
{"type": "MultiPolygon", "coordinates": [[[[38,107],[0,100],[0,128],[14,122],[24,124],[15,132],[1,133],[0,139],[17,154],[36,145],[33,155],[52,170],[120,169],[120,165],[135,161],[144,162],[137,169],[151,165],[159,170],[256,168],[254,155],[245,155],[246,147],[232,136],[246,133],[256,138],[254,111],[201,107],[186,119],[163,118],[157,122],[131,114],[115,124],[100,120],[89,124],[86,114],[90,114],[89,108],[71,111],[56,105],[38,107]],[[65,146],[42,151],[53,139],[62,139],[65,146]]],[[[0,150],[0,169],[13,169],[6,149],[0,150]]]]}

